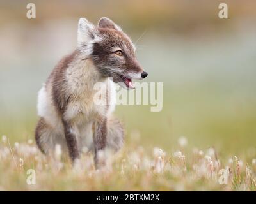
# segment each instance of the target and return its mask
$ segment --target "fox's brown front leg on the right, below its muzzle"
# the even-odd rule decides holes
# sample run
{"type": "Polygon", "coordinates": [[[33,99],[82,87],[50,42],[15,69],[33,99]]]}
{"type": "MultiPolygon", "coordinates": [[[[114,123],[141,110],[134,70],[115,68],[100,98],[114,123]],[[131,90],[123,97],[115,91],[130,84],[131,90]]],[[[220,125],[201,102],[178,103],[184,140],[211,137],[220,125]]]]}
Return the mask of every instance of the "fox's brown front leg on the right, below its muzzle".
{"type": "Polygon", "coordinates": [[[99,152],[104,151],[107,142],[107,118],[101,117],[93,123],[93,145],[94,145],[94,161],[95,167],[104,166],[106,161],[99,159],[99,152]]]}

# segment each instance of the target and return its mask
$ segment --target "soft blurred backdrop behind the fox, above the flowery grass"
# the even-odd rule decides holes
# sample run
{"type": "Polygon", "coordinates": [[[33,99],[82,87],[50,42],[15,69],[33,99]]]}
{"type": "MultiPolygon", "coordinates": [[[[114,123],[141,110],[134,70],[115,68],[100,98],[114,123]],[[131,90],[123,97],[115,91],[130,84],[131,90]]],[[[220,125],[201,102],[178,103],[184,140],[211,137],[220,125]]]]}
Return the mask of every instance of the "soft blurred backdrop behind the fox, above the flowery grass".
{"type": "Polygon", "coordinates": [[[146,81],[164,88],[161,112],[117,107],[127,144],[168,151],[186,136],[220,154],[255,151],[255,1],[225,0],[228,19],[218,18],[223,1],[33,1],[32,20],[28,3],[0,3],[0,135],[11,143],[33,138],[37,92],[76,47],[79,17],[96,24],[106,16],[138,40],[146,81]]]}

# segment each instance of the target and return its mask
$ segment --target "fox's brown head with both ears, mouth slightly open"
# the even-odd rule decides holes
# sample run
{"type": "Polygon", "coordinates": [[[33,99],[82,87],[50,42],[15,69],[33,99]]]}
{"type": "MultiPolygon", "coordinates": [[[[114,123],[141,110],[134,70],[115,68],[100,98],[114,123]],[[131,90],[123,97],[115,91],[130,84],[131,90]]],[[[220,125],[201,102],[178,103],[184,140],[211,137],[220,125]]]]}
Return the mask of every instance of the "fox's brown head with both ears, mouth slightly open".
{"type": "Polygon", "coordinates": [[[122,87],[133,89],[132,78],[142,79],[148,75],[136,59],[131,39],[109,18],[100,18],[97,26],[80,18],[77,46],[104,77],[112,77],[122,87]]]}

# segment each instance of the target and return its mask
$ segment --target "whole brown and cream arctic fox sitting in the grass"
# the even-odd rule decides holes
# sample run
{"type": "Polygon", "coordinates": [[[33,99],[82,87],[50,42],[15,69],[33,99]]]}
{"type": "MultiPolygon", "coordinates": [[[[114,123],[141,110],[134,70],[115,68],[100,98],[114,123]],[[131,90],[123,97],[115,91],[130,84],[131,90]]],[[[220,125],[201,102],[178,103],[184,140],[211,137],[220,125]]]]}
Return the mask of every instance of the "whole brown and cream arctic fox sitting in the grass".
{"type": "Polygon", "coordinates": [[[106,17],[97,26],[80,18],[76,50],[58,62],[38,92],[35,139],[39,149],[49,154],[60,144],[74,162],[87,147],[99,168],[100,150],[108,147],[116,152],[123,145],[122,124],[112,115],[113,83],[133,89],[132,78],[145,77],[132,41],[118,25],[106,17]],[[102,94],[106,104],[93,101],[97,82],[111,83],[106,86],[108,94],[102,94]]]}

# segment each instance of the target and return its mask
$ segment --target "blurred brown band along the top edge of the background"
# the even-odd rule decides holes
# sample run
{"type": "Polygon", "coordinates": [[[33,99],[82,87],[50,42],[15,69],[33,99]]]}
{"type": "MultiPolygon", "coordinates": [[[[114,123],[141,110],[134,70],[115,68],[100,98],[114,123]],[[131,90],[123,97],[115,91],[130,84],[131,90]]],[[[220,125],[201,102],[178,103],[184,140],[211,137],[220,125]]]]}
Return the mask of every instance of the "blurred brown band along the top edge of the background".
{"type": "MultiPolygon", "coordinates": [[[[12,22],[27,22],[26,4],[29,1],[1,1],[0,25],[12,22]],[[6,20],[8,19],[8,20],[6,20]]],[[[204,0],[148,0],[148,1],[33,1],[36,4],[36,20],[29,22],[38,25],[56,19],[87,17],[97,22],[100,17],[115,19],[125,29],[144,31],[172,31],[186,34],[200,29],[218,29],[232,26],[244,18],[256,17],[256,2],[253,0],[227,0],[228,20],[218,18],[218,5],[223,1],[204,0]]],[[[198,31],[199,30],[199,31],[198,31]]],[[[227,31],[227,30],[226,30],[227,31]]],[[[159,32],[160,33],[160,32],[159,32]]],[[[163,32],[162,32],[163,33],[163,32]]]]}

